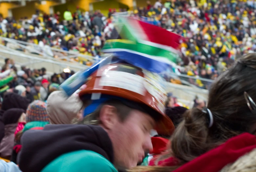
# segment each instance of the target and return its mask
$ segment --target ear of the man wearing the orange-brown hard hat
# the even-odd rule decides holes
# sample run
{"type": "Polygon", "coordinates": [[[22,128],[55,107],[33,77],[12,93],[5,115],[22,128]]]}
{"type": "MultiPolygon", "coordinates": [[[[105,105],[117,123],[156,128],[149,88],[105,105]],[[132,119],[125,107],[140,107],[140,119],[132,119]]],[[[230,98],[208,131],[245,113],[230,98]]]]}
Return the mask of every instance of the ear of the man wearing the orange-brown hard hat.
{"type": "Polygon", "coordinates": [[[100,110],[100,121],[105,129],[113,129],[118,122],[116,108],[114,106],[104,105],[100,110]]]}

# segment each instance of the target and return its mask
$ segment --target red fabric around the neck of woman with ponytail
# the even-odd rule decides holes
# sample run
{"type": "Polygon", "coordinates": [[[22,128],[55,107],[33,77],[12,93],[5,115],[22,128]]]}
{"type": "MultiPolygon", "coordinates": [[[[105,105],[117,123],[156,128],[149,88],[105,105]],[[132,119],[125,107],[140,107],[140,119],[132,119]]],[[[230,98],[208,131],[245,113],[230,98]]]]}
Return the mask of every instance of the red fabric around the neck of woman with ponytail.
{"type": "MultiPolygon", "coordinates": [[[[198,158],[184,164],[174,172],[218,172],[229,163],[235,162],[238,158],[256,148],[256,137],[249,133],[244,133],[233,137],[212,149],[198,158]]],[[[173,157],[159,161],[158,165],[173,166],[177,165],[177,160],[173,157]]],[[[153,161],[150,162],[153,164],[153,161]]]]}

